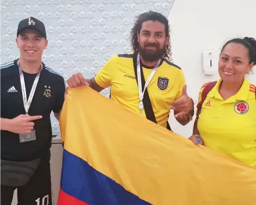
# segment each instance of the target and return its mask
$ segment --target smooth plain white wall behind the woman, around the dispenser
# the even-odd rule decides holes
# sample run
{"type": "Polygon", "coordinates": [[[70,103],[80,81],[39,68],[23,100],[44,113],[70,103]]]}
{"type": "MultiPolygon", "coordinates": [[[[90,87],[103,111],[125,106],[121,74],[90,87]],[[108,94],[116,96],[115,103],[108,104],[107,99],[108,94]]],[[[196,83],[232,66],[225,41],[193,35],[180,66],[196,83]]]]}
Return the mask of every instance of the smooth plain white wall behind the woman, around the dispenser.
{"type": "MultiPolygon", "coordinates": [[[[172,59],[184,71],[190,97],[197,101],[200,87],[219,79],[218,73],[203,74],[203,50],[213,49],[219,56],[221,46],[233,37],[256,39],[255,8],[255,0],[176,0],[172,5],[168,16],[172,59]]],[[[249,80],[256,84],[256,75],[250,75],[249,80]]],[[[169,121],[176,133],[190,136],[193,123],[183,127],[172,116],[169,121]]]]}

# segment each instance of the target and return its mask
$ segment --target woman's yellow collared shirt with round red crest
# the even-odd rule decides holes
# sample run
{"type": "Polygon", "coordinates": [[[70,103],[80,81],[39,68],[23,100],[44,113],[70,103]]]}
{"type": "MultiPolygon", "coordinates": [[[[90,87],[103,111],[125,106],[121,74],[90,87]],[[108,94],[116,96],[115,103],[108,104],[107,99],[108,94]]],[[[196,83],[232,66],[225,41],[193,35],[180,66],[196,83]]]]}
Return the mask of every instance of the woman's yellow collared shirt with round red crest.
{"type": "Polygon", "coordinates": [[[199,115],[197,128],[204,145],[240,162],[256,166],[255,86],[245,78],[239,92],[223,100],[219,94],[220,84],[221,80],[209,92],[199,115]]]}

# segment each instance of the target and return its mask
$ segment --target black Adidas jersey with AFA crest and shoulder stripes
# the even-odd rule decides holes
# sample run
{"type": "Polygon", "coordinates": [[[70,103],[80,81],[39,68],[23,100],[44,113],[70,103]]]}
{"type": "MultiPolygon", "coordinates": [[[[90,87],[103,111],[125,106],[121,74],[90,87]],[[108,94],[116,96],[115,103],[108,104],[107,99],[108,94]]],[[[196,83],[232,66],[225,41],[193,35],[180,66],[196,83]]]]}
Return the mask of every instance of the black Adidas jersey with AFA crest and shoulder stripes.
{"type": "MultiPolygon", "coordinates": [[[[24,74],[27,98],[36,74],[24,74]]],[[[1,130],[1,159],[29,161],[47,153],[52,144],[50,113],[61,111],[65,80],[62,75],[44,65],[36,91],[29,107],[30,116],[43,116],[35,120],[36,140],[20,143],[19,135],[1,130]]],[[[25,114],[17,60],[1,65],[1,118],[13,119],[25,114]]]]}

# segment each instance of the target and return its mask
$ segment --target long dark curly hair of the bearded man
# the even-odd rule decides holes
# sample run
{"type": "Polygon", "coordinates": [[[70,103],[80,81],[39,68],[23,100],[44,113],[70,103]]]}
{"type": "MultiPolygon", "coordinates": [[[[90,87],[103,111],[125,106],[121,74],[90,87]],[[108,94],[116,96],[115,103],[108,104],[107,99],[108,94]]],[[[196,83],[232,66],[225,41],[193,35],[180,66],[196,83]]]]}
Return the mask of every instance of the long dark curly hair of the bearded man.
{"type": "MultiPolygon", "coordinates": [[[[138,16],[136,16],[135,25],[131,30],[130,33],[130,39],[131,39],[131,46],[133,48],[133,51],[136,52],[139,49],[139,42],[138,42],[138,36],[137,34],[140,33],[140,30],[142,29],[142,23],[145,21],[159,21],[165,25],[165,35],[170,36],[170,28],[169,28],[169,22],[168,19],[163,16],[162,14],[159,14],[156,11],[148,11],[144,12],[138,16]]],[[[172,61],[171,59],[171,44],[170,39],[165,46],[164,54],[162,55],[163,58],[172,61]]]]}

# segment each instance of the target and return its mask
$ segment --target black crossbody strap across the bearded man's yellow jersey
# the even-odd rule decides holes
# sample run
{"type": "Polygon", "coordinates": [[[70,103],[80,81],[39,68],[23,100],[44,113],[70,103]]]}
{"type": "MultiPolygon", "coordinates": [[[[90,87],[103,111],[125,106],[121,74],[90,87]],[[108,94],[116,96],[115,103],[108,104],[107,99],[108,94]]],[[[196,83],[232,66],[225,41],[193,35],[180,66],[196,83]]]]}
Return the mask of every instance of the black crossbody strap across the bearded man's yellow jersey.
{"type": "MultiPolygon", "coordinates": [[[[138,52],[135,52],[133,54],[133,68],[134,68],[134,71],[135,71],[136,81],[137,81],[137,84],[138,84],[137,55],[138,55],[138,52]]],[[[144,88],[146,82],[145,82],[145,78],[144,78],[144,74],[143,74],[143,70],[142,70],[141,65],[140,65],[140,73],[141,73],[141,77],[142,77],[142,87],[144,88]]],[[[146,118],[148,120],[152,121],[153,123],[157,124],[156,116],[155,116],[155,113],[153,112],[153,107],[152,107],[152,104],[151,104],[151,100],[149,98],[148,88],[145,89],[144,97],[143,97],[142,101],[143,101],[144,110],[145,110],[145,113],[146,113],[146,118]]],[[[167,120],[167,129],[172,131],[168,120],[167,120]]]]}

